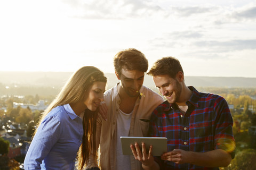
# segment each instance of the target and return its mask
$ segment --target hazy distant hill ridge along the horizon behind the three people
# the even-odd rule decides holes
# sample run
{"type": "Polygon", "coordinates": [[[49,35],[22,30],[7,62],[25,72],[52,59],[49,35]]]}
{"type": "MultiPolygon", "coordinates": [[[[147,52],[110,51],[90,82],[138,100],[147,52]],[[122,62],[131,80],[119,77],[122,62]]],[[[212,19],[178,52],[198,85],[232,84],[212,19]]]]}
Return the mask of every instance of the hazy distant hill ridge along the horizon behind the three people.
{"type": "MultiPolygon", "coordinates": [[[[71,74],[71,72],[0,72],[0,84],[60,88],[71,74]]],[[[106,73],[105,75],[108,78],[107,88],[115,86],[118,82],[115,74],[106,73]]],[[[194,87],[256,88],[256,78],[187,76],[185,82],[187,86],[194,87]]],[[[145,77],[144,84],[150,88],[155,87],[152,78],[148,75],[145,77]]]]}

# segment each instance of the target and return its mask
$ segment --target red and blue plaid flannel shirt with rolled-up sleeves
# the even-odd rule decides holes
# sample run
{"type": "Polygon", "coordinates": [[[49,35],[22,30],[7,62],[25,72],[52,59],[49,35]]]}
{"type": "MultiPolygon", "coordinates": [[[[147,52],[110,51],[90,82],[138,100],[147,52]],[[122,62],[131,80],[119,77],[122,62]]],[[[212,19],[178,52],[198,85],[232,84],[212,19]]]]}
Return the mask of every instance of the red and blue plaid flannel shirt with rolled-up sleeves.
{"type": "MultiPolygon", "coordinates": [[[[149,135],[166,137],[168,151],[183,149],[194,152],[207,152],[223,149],[235,156],[233,137],[233,118],[227,101],[218,95],[198,92],[188,87],[193,95],[187,101],[185,115],[176,104],[164,101],[153,112],[150,120],[149,135]]],[[[193,164],[174,164],[155,157],[161,169],[219,169],[196,166],[193,164]]]]}

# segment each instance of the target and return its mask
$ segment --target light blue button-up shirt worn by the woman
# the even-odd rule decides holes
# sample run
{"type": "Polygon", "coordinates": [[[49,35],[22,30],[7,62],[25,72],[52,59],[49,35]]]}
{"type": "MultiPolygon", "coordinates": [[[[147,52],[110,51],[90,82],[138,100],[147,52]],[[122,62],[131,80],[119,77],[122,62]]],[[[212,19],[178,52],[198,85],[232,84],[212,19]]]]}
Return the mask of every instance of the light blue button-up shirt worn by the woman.
{"type": "Polygon", "coordinates": [[[82,138],[82,118],[70,105],[53,108],[39,125],[30,144],[25,169],[74,169],[82,138]]]}

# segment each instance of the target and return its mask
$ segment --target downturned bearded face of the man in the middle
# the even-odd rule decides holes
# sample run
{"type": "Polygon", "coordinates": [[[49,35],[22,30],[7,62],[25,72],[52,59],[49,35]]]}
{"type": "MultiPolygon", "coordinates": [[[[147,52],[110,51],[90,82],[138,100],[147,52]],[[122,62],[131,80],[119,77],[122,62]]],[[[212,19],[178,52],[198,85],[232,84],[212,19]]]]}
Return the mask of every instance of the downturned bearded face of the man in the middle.
{"type": "Polygon", "coordinates": [[[138,70],[125,71],[122,69],[122,74],[117,74],[117,78],[121,80],[121,90],[124,90],[130,97],[138,97],[144,74],[144,72],[138,70]]]}

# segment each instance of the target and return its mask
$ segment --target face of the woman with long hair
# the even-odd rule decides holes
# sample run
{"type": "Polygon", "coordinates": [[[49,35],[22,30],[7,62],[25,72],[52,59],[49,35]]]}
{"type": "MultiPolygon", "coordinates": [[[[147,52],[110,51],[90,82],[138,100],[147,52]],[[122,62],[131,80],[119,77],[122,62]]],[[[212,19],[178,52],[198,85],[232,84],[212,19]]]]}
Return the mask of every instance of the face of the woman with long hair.
{"type": "Polygon", "coordinates": [[[105,82],[96,81],[92,84],[88,92],[86,92],[83,103],[90,111],[96,111],[100,102],[103,101],[103,93],[105,92],[105,82]]]}

